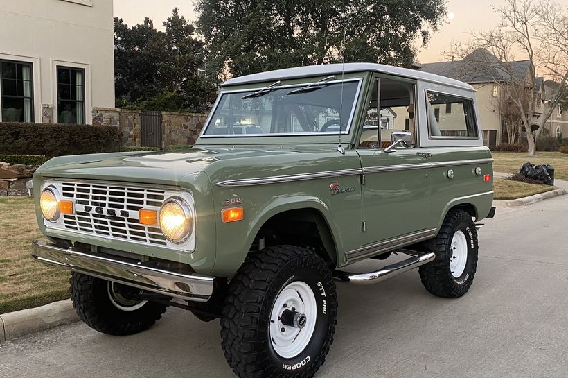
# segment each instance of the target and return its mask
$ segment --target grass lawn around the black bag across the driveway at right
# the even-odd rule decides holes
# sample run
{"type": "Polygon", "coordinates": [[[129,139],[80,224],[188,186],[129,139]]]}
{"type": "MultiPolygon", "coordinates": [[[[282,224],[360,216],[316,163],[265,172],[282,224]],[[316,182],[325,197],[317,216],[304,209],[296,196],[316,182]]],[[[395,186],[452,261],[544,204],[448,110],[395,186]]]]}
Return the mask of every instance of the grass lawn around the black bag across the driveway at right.
{"type": "Polygon", "coordinates": [[[492,153],[493,171],[518,173],[522,164],[530,162],[535,165],[551,164],[554,166],[554,178],[568,180],[568,154],[560,152],[538,152],[536,156],[526,153],[492,153]]]}

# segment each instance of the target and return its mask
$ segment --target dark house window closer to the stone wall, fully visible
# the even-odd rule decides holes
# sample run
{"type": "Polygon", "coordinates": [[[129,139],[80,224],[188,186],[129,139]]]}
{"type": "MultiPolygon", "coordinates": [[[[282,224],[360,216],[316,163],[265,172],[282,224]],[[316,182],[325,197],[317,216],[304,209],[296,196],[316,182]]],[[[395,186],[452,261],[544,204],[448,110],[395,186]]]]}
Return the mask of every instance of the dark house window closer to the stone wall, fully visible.
{"type": "Polygon", "coordinates": [[[57,66],[57,123],[85,123],[85,70],[57,66]]]}

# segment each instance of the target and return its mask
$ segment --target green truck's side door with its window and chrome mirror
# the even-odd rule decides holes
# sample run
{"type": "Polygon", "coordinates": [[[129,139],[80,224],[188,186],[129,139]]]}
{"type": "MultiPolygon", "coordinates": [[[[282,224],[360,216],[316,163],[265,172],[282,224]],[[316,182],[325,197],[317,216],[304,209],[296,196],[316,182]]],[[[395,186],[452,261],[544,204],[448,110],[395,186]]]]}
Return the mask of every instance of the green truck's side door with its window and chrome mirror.
{"type": "Polygon", "coordinates": [[[425,239],[430,212],[429,153],[418,146],[414,114],[416,83],[401,78],[376,78],[369,91],[364,126],[357,146],[364,172],[360,248],[348,252],[355,260],[425,239]],[[387,147],[395,135],[407,143],[387,147]],[[404,138],[403,138],[404,139],[404,138]],[[385,152],[387,151],[387,152],[385,152]]]}

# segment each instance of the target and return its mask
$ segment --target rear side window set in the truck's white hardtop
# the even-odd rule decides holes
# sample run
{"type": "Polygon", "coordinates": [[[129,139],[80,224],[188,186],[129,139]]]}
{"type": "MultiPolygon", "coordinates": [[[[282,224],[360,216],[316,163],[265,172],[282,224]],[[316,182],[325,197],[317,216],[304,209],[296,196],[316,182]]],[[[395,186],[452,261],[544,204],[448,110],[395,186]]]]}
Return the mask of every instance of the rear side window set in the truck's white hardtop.
{"type": "Polygon", "coordinates": [[[428,131],[431,139],[479,138],[472,100],[436,92],[426,92],[426,98],[428,131]],[[445,111],[441,112],[441,108],[445,111]]]}

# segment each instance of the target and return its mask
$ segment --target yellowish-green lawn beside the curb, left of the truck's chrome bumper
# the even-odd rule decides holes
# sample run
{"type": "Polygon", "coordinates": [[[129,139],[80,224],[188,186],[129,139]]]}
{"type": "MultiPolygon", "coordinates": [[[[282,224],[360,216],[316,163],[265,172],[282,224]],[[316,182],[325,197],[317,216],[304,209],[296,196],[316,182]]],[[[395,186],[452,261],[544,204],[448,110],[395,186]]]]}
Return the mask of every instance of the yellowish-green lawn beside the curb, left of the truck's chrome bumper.
{"type": "Polygon", "coordinates": [[[41,238],[33,200],[0,197],[0,313],[69,298],[69,272],[30,255],[31,241],[41,238]]]}

